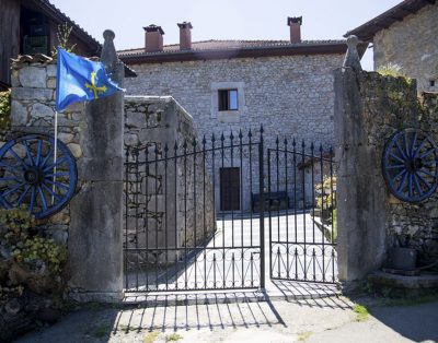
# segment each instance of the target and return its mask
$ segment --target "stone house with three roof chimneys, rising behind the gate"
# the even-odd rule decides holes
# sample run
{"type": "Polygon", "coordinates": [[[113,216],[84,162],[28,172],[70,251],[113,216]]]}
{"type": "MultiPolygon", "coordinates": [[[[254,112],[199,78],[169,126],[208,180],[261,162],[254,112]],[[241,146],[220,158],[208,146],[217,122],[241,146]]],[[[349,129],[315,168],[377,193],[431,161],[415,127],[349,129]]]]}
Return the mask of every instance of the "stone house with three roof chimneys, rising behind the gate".
{"type": "MultiPolygon", "coordinates": [[[[345,40],[302,40],[301,23],[302,17],[288,17],[290,40],[192,42],[193,26],[183,22],[175,45],[163,44],[162,27],[147,26],[143,47],[118,51],[138,74],[126,80],[127,94],[173,96],[193,116],[200,139],[222,132],[238,138],[240,130],[245,135],[263,126],[267,147],[275,147],[279,137],[327,149],[334,140],[332,72],[342,66],[347,46],[345,40]]],[[[360,45],[360,55],[365,48],[360,45]]],[[[214,174],[217,210],[249,210],[255,191],[249,189],[247,174],[230,161],[214,174]],[[241,200],[221,200],[233,198],[241,200]]],[[[257,189],[257,181],[253,186],[257,189]]]]}

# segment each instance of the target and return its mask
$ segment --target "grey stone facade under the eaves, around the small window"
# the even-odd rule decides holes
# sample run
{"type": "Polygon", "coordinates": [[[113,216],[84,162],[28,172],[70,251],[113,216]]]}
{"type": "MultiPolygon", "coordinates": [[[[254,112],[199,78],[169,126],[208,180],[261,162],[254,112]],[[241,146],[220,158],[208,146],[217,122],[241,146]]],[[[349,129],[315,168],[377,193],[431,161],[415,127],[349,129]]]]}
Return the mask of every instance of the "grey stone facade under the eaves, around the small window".
{"type": "MultiPolygon", "coordinates": [[[[172,95],[208,141],[222,132],[227,140],[231,132],[238,138],[239,130],[246,137],[250,129],[258,138],[263,126],[266,147],[275,147],[278,135],[281,142],[296,138],[299,145],[304,140],[307,150],[310,142],[327,150],[334,140],[332,72],[342,60],[342,55],[333,54],[132,64],[138,78],[127,80],[126,88],[128,94],[172,95]],[[238,90],[239,110],[218,110],[220,88],[238,90]]],[[[247,158],[243,168],[249,170],[247,158]]],[[[219,211],[220,173],[214,174],[219,211]]],[[[258,192],[258,178],[254,177],[253,189],[245,187],[245,179],[242,206],[247,211],[251,192],[258,192]]]]}

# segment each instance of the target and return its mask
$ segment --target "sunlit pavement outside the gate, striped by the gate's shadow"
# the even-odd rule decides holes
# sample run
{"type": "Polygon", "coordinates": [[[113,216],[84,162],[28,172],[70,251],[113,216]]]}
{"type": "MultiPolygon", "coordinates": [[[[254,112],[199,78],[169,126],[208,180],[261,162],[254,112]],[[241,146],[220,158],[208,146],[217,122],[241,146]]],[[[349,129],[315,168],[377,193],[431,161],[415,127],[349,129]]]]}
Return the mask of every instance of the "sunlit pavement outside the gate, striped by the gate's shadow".
{"type": "Polygon", "coordinates": [[[371,315],[357,321],[346,298],[83,309],[20,343],[76,342],[438,342],[438,301],[384,307],[360,299],[371,315]]]}

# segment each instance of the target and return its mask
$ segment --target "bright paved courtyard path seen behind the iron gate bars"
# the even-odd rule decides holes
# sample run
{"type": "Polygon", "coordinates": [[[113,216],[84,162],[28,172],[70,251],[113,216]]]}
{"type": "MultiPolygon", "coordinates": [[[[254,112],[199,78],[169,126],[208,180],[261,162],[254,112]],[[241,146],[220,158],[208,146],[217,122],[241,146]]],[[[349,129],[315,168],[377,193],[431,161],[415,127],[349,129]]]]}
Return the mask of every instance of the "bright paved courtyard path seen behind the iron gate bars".
{"type": "MultiPolygon", "coordinates": [[[[334,281],[336,255],[314,225],[310,214],[273,212],[265,218],[266,288],[277,288],[274,279],[334,281]],[[269,238],[269,227],[272,228],[269,238]],[[272,241],[272,245],[269,245],[272,241]]],[[[205,249],[176,265],[129,275],[140,291],[177,288],[257,288],[261,279],[260,218],[220,216],[218,232],[205,249]]],[[[185,252],[185,251],[182,251],[185,252]]]]}

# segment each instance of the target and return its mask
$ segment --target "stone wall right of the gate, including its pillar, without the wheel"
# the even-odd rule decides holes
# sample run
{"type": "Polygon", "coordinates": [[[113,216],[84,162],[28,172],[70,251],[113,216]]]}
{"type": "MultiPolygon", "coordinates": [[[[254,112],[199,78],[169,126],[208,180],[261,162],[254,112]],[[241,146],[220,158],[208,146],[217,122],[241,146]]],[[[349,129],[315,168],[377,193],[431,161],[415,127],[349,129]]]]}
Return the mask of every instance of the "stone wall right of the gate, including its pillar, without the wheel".
{"type": "Polygon", "coordinates": [[[397,237],[406,235],[420,250],[420,263],[436,257],[437,193],[419,203],[396,199],[382,176],[382,153],[406,128],[438,141],[437,95],[417,99],[415,82],[350,68],[336,71],[335,87],[339,280],[358,281],[381,268],[397,237]]]}

